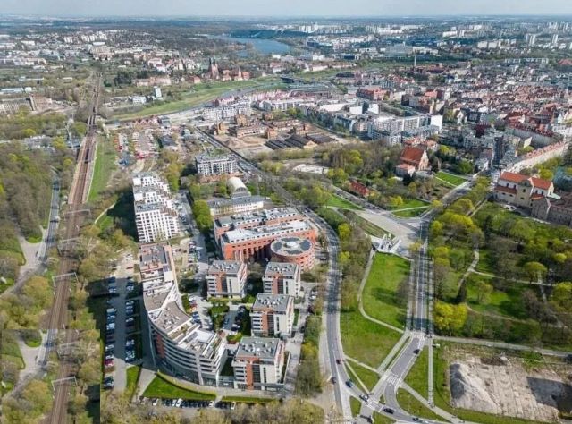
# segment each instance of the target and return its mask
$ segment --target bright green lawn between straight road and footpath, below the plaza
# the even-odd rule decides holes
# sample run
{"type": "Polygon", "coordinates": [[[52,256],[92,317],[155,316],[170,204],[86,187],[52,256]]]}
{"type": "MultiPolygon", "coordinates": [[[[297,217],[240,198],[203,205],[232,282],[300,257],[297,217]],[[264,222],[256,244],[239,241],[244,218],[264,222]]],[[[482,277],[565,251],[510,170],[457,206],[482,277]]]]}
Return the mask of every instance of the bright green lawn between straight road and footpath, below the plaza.
{"type": "MultiPolygon", "coordinates": [[[[403,328],[407,299],[399,294],[400,284],[407,284],[410,264],[395,255],[376,253],[362,294],[367,315],[403,328]]],[[[406,291],[407,293],[407,291],[406,291]]]]}

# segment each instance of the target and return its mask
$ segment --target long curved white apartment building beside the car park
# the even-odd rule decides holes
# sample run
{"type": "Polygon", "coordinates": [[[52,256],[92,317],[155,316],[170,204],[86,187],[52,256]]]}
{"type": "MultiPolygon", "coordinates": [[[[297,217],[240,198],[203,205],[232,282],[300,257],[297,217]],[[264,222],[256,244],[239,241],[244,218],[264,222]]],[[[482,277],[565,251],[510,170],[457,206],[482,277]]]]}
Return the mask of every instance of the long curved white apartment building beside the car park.
{"type": "Polygon", "coordinates": [[[199,385],[217,386],[226,341],[221,333],[203,330],[184,311],[171,246],[141,245],[139,269],[157,365],[199,385]]]}

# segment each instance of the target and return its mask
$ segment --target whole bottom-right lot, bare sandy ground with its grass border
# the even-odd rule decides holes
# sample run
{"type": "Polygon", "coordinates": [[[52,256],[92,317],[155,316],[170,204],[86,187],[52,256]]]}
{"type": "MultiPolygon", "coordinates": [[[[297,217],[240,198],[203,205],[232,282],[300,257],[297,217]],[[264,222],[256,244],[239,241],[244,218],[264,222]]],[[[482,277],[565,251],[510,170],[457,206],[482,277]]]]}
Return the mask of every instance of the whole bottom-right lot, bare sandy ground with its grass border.
{"type": "MultiPolygon", "coordinates": [[[[485,347],[455,343],[441,342],[440,344],[441,346],[434,350],[434,401],[443,410],[455,414],[462,420],[471,420],[483,424],[533,424],[539,422],[535,420],[543,420],[542,417],[547,416],[547,411],[556,412],[556,409],[550,406],[550,403],[553,404],[554,400],[551,399],[551,396],[549,396],[550,399],[543,397],[541,395],[543,392],[541,387],[544,385],[558,387],[558,384],[554,386],[555,380],[553,378],[555,369],[559,370],[559,372],[565,372],[561,362],[558,366],[551,366],[544,362],[542,356],[535,353],[501,352],[485,347]],[[505,362],[501,360],[501,357],[508,357],[508,360],[505,362]],[[475,367],[475,371],[466,373],[465,389],[457,390],[457,398],[452,399],[450,365],[452,363],[463,364],[465,362],[467,364],[472,363],[471,367],[475,367]],[[536,373],[542,373],[543,378],[541,380],[531,380],[530,377],[533,377],[536,373]],[[486,386],[486,383],[482,384],[482,378],[486,379],[488,386],[486,386]],[[534,386],[537,387],[534,388],[534,386]],[[477,387],[479,390],[476,390],[477,387]],[[534,394],[533,391],[536,393],[534,394]],[[484,412],[493,412],[495,408],[499,407],[496,403],[485,403],[485,399],[490,400],[492,398],[503,405],[505,408],[503,410],[504,413],[510,411],[515,415],[526,418],[501,416],[484,412]],[[507,401],[508,404],[505,405],[507,401]],[[466,407],[456,408],[453,406],[453,402],[457,405],[463,404],[465,406],[475,403],[473,408],[476,409],[475,407],[478,407],[482,411],[472,411],[466,407]],[[485,408],[485,405],[488,405],[488,407],[485,408]],[[527,407],[529,410],[532,409],[532,411],[526,411],[525,413],[522,409],[523,407],[527,407]],[[518,411],[518,409],[521,411],[518,411]],[[530,418],[535,420],[529,420],[530,418]]],[[[459,370],[458,367],[455,367],[455,369],[459,370]]],[[[568,374],[570,369],[571,367],[568,366],[568,374]]],[[[464,368],[461,366],[460,376],[463,376],[463,370],[464,368]]],[[[455,380],[455,384],[463,384],[463,380],[458,376],[455,380]]],[[[572,399],[572,396],[568,396],[568,399],[572,399]]]]}

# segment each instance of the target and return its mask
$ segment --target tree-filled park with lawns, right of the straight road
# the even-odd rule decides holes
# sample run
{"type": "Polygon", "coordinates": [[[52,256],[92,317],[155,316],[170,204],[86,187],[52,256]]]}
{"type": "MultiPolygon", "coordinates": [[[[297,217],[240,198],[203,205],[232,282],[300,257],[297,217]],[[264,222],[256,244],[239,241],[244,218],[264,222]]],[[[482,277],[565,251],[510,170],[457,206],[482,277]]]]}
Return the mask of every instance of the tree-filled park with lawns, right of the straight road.
{"type": "Polygon", "coordinates": [[[572,343],[572,230],[486,198],[488,182],[431,225],[435,326],[445,335],[572,343]],[[475,270],[463,278],[478,252],[475,270]]]}

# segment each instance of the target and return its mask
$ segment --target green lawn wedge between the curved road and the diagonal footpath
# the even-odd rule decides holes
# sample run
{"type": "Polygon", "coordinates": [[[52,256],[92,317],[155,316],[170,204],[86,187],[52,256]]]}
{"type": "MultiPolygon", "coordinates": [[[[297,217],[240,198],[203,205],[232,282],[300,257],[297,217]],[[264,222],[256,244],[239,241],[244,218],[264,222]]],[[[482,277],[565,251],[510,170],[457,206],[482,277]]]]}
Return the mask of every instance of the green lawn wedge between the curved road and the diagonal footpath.
{"type": "Polygon", "coordinates": [[[400,333],[375,324],[357,310],[341,313],[340,330],[344,353],[373,368],[379,367],[400,340],[400,333]]]}

